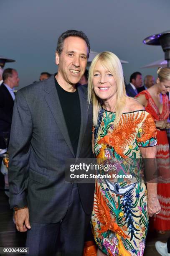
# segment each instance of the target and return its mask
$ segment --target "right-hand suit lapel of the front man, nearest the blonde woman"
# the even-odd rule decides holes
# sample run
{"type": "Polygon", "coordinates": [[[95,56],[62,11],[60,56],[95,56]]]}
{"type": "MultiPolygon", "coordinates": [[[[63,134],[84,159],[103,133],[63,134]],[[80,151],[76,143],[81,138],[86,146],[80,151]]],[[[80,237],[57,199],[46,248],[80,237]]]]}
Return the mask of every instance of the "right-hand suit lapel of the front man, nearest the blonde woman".
{"type": "Polygon", "coordinates": [[[81,125],[80,125],[80,134],[79,134],[79,142],[77,147],[77,154],[76,158],[79,158],[81,146],[83,143],[84,133],[86,132],[86,124],[88,118],[88,102],[87,102],[87,95],[84,93],[83,88],[81,85],[77,88],[79,93],[79,100],[80,100],[80,111],[81,111],[81,125]]]}

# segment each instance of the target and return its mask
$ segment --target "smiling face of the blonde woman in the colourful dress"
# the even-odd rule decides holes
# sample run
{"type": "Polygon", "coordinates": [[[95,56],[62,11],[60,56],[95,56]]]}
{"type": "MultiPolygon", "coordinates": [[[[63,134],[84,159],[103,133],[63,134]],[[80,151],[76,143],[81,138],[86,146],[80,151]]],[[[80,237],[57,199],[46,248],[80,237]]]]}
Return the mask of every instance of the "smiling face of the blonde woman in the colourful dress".
{"type": "Polygon", "coordinates": [[[101,100],[109,100],[116,96],[117,84],[114,77],[102,66],[101,61],[96,62],[93,72],[93,88],[101,100]]]}

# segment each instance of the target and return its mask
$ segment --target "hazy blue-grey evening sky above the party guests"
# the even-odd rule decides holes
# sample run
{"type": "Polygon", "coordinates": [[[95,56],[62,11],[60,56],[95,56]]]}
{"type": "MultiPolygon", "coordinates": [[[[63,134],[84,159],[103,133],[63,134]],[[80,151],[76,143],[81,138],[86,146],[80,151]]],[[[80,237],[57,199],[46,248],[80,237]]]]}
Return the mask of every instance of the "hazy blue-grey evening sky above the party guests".
{"type": "Polygon", "coordinates": [[[162,48],[142,41],[170,30],[170,0],[0,0],[0,17],[0,56],[16,60],[5,68],[18,71],[18,89],[41,72],[57,71],[57,39],[68,29],[86,33],[91,50],[128,61],[123,70],[129,82],[135,71],[157,77],[157,68],[141,67],[164,59],[162,48]]]}

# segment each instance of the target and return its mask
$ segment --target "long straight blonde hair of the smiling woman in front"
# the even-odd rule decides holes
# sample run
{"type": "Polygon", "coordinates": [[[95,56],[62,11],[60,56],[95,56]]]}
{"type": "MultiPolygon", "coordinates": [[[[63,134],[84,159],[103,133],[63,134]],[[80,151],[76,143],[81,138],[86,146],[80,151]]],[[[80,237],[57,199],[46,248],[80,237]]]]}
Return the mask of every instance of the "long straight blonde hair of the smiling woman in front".
{"type": "Polygon", "coordinates": [[[93,104],[93,123],[94,126],[97,125],[97,118],[99,111],[101,109],[102,101],[99,99],[93,89],[93,73],[97,61],[101,62],[101,65],[107,69],[114,77],[114,80],[117,84],[117,104],[116,104],[116,118],[114,120],[114,125],[119,122],[119,118],[123,113],[123,108],[126,103],[125,85],[124,85],[124,76],[122,70],[122,64],[119,58],[109,51],[104,51],[96,55],[96,57],[91,62],[89,69],[89,80],[88,80],[88,103],[92,102],[93,104]]]}

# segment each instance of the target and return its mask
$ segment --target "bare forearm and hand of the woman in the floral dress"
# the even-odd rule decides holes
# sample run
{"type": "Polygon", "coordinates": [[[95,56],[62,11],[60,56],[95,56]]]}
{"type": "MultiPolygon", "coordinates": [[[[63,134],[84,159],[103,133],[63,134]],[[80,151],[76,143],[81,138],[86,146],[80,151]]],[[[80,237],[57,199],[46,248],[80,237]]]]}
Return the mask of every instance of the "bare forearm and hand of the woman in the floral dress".
{"type": "Polygon", "coordinates": [[[147,207],[149,216],[161,210],[159,200],[157,198],[157,164],[156,164],[156,146],[140,147],[140,152],[145,161],[145,174],[147,179],[147,207]]]}

